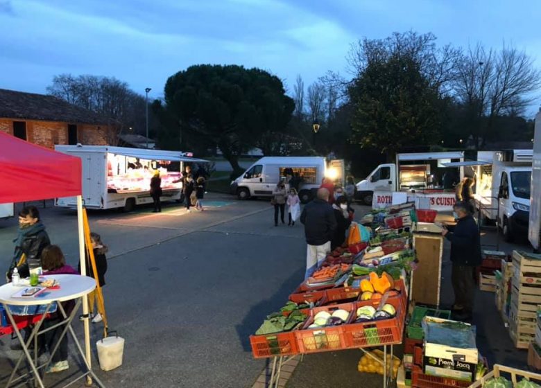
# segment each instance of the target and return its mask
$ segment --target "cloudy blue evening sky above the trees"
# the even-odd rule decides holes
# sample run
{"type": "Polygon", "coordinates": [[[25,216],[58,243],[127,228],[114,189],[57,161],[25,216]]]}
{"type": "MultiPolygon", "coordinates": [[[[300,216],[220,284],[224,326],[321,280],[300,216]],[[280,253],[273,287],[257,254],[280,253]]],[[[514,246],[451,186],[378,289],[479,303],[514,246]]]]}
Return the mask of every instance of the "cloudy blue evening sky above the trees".
{"type": "Polygon", "coordinates": [[[298,73],[346,75],[357,39],[410,29],[511,43],[541,68],[540,21],[537,0],[0,0],[0,87],[43,93],[55,74],[94,74],[155,98],[173,73],[212,63],[266,69],[291,90],[298,73]]]}

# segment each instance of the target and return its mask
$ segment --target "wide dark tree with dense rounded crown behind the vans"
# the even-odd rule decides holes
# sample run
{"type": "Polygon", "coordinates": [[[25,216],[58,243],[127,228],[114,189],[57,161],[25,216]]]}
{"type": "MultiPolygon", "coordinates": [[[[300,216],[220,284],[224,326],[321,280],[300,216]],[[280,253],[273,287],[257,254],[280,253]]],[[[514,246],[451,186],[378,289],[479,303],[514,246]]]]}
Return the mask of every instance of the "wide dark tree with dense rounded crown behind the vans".
{"type": "Polygon", "coordinates": [[[294,107],[280,78],[266,71],[202,64],[169,77],[162,116],[172,136],[217,146],[239,173],[243,152],[257,145],[273,152],[272,142],[262,140],[280,137],[275,134],[285,131],[294,107]]]}

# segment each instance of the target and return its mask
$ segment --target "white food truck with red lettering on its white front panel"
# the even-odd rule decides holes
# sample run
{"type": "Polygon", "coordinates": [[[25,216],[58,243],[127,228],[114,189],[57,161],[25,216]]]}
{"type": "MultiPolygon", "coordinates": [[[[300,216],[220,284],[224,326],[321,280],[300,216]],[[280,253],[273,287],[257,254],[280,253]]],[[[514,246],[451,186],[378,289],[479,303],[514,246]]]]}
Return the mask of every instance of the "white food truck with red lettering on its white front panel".
{"type": "Polygon", "coordinates": [[[403,193],[420,209],[451,211],[453,184],[460,181],[463,170],[445,164],[463,160],[462,151],[397,154],[395,163],[380,164],[357,183],[356,198],[377,209],[392,204],[393,193],[403,193]]]}

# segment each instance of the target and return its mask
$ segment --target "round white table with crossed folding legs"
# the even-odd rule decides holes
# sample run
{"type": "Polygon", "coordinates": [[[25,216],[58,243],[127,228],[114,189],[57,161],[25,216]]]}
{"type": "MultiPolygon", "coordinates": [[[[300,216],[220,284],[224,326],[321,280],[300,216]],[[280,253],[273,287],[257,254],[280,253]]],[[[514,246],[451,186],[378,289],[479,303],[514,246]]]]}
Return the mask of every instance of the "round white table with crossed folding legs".
{"type": "MultiPolygon", "coordinates": [[[[19,378],[14,380],[15,373],[17,373],[17,370],[19,369],[19,365],[21,364],[22,360],[24,360],[26,356],[26,360],[28,360],[28,363],[30,364],[30,367],[32,369],[32,374],[34,376],[35,382],[41,388],[44,388],[43,384],[43,378],[40,376],[39,370],[42,368],[46,368],[49,363],[51,362],[53,355],[58,351],[58,347],[60,346],[60,342],[64,338],[65,335],[67,335],[67,332],[71,333],[71,337],[73,338],[76,348],[78,349],[78,352],[80,353],[80,356],[83,358],[83,362],[86,366],[87,371],[83,373],[82,376],[79,376],[76,378],[76,380],[73,380],[69,382],[68,385],[73,384],[77,380],[80,380],[81,378],[84,378],[85,376],[92,376],[94,380],[96,380],[96,384],[99,387],[105,388],[101,381],[96,377],[96,374],[92,371],[92,368],[88,364],[87,359],[85,358],[85,352],[83,351],[83,348],[81,348],[80,343],[77,339],[77,336],[75,334],[74,329],[71,327],[71,323],[74,320],[74,317],[80,307],[80,304],[82,302],[83,297],[88,294],[89,292],[92,292],[94,288],[96,288],[96,281],[88,276],[80,276],[80,275],[44,275],[45,279],[55,279],[60,283],[60,288],[58,290],[45,290],[41,294],[39,294],[37,297],[30,297],[30,298],[17,298],[13,297],[14,294],[16,294],[18,291],[22,290],[22,288],[29,286],[19,286],[19,285],[12,285],[11,283],[4,284],[0,287],[0,303],[2,304],[3,308],[6,310],[6,314],[8,315],[8,319],[10,320],[13,330],[15,331],[15,334],[17,335],[17,338],[19,342],[22,345],[23,354],[17,361],[17,364],[15,364],[15,367],[13,369],[13,372],[11,373],[10,379],[8,380],[8,384],[6,385],[6,388],[11,385],[12,382],[16,382],[18,380],[21,380],[22,378],[28,376],[20,376],[19,378]],[[63,301],[69,301],[71,299],[77,299],[76,306],[71,311],[71,314],[69,317],[66,315],[66,312],[64,308],[62,308],[63,301]],[[49,328],[46,328],[46,330],[40,331],[40,327],[42,326],[42,323],[44,319],[46,318],[47,313],[50,311],[51,307],[53,306],[53,303],[57,303],[58,305],[58,311],[64,318],[60,323],[55,324],[54,326],[51,326],[49,328]],[[31,336],[28,338],[28,341],[25,343],[24,339],[19,331],[19,328],[17,328],[17,324],[15,322],[15,319],[13,319],[13,316],[10,312],[9,306],[37,306],[37,305],[46,305],[46,310],[42,316],[42,319],[35,324],[31,336]],[[37,335],[40,335],[46,331],[53,330],[54,328],[57,328],[59,326],[65,326],[62,335],[60,335],[58,342],[55,345],[55,349],[50,349],[51,351],[51,357],[45,364],[40,365],[40,367],[37,367],[37,357],[36,360],[33,360],[30,352],[28,351],[28,346],[32,343],[34,337],[37,335]]],[[[37,349],[34,350],[35,353],[37,353],[37,349]]],[[[67,387],[66,385],[65,387],[67,387]]]]}

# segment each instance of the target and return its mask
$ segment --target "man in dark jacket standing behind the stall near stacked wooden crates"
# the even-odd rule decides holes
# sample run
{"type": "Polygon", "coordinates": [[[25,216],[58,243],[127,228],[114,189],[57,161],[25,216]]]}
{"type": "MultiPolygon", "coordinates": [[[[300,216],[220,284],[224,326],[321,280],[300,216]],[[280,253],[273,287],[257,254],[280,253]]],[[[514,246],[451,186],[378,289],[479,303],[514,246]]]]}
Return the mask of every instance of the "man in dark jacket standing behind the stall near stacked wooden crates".
{"type": "MultiPolygon", "coordinates": [[[[458,216],[452,231],[443,229],[443,236],[451,242],[451,282],[455,303],[453,310],[458,319],[471,319],[475,295],[475,267],[481,265],[481,240],[479,229],[465,202],[456,202],[454,211],[458,216]]],[[[450,228],[449,228],[450,229],[450,228]]]]}

